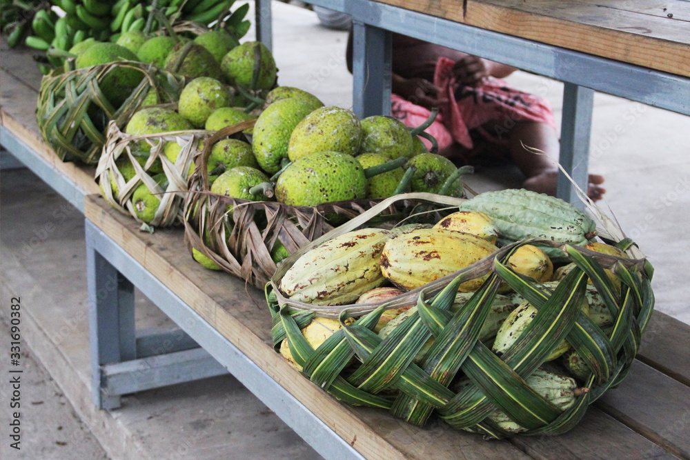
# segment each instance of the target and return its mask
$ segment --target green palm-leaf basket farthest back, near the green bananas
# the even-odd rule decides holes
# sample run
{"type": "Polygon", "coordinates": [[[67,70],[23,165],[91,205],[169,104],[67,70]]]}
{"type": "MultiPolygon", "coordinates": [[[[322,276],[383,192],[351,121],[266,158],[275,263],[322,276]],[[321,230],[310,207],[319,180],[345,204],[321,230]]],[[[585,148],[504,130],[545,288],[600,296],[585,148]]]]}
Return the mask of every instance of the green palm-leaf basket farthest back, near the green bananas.
{"type": "Polygon", "coordinates": [[[66,72],[57,68],[41,79],[36,119],[43,139],[62,161],[98,162],[110,121],[123,128],[139,109],[150,88],[160,100],[177,101],[184,78],[148,64],[117,61],[66,72]],[[124,103],[115,107],[101,84],[110,72],[131,68],[143,79],[124,103]]]}

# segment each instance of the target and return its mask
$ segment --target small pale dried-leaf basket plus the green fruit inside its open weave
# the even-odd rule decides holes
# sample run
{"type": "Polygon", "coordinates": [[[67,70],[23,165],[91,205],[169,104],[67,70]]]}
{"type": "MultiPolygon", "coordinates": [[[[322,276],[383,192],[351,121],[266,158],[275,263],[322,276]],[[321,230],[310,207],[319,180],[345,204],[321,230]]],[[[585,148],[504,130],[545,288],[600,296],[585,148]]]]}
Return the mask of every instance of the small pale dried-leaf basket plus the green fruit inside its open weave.
{"type": "Polygon", "coordinates": [[[182,203],[199,141],[213,133],[126,134],[116,121],[110,121],[95,174],[101,195],[110,206],[142,223],[144,230],[181,225],[182,203]],[[174,163],[164,152],[168,143],[180,147],[174,163]]]}

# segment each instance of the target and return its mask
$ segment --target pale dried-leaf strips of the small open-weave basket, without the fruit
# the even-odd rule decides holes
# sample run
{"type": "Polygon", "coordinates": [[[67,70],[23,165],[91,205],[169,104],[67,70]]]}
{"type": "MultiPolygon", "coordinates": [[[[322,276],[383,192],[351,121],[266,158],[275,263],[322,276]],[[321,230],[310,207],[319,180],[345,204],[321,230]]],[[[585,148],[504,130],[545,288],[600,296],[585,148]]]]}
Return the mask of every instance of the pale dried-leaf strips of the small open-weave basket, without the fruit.
{"type": "Polygon", "coordinates": [[[182,203],[188,192],[187,172],[194,162],[194,157],[199,154],[199,139],[207,139],[212,134],[213,131],[188,130],[133,135],[121,132],[117,123],[111,121],[108,126],[108,139],[96,168],[96,179],[101,186],[101,194],[111,206],[148,226],[163,228],[176,223],[181,224],[182,203]],[[141,165],[133,154],[141,149],[141,141],[151,146],[150,155],[144,165],[141,165]],[[168,160],[163,153],[166,142],[177,142],[181,146],[175,163],[168,160]],[[116,161],[121,157],[126,157],[135,169],[136,174],[129,181],[124,179],[117,166],[116,161]],[[154,164],[161,165],[166,175],[168,186],[165,189],[153,179],[157,174],[152,170],[154,164]],[[111,177],[115,181],[117,192],[112,188],[111,177]],[[155,217],[148,222],[139,219],[132,203],[132,194],[141,183],[146,184],[148,190],[160,199],[155,217]]]}

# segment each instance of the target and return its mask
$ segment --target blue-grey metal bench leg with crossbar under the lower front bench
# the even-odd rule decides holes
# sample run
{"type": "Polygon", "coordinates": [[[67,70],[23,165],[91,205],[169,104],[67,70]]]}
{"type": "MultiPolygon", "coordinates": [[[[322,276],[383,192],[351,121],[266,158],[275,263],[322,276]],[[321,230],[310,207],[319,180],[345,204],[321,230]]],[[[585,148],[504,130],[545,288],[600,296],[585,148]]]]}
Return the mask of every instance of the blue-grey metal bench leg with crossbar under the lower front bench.
{"type": "Polygon", "coordinates": [[[137,330],[134,285],[113,265],[122,260],[116,256],[111,263],[99,252],[95,242],[99,230],[88,220],[85,231],[95,406],[115,409],[121,405],[122,394],[227,374],[181,329],[137,330]]]}

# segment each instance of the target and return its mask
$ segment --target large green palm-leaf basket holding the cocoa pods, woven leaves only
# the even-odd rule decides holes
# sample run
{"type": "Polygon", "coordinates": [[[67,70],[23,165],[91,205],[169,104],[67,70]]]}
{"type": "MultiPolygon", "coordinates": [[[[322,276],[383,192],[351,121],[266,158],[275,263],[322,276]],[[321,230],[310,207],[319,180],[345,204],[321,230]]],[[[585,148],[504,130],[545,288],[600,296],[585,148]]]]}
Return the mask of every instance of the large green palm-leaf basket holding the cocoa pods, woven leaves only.
{"type": "MultiPolygon", "coordinates": [[[[418,194],[410,195],[420,198],[418,194]]],[[[599,214],[600,223],[603,219],[606,226],[600,230],[600,236],[606,235],[602,239],[627,250],[630,259],[551,241],[529,240],[504,246],[464,270],[380,303],[313,306],[282,295],[278,288],[280,280],[299,255],[361,226],[392,201],[407,198],[382,201],[304,246],[278,268],[266,287],[275,350],[287,338],[304,377],[337,399],[389,410],[395,417],[418,426],[436,414],[453,428],[491,438],[514,436],[515,432],[487,418],[501,410],[524,429],[522,434],[560,434],[573,428],[591,403],[626,377],[640,346],[640,336],[654,303],[650,285],[653,269],[642,252],[599,214]],[[577,268],[555,290],[521,277],[506,261],[525,243],[561,248],[577,268]],[[613,288],[604,268],[611,268],[620,279],[620,292],[613,288]],[[453,302],[460,283],[487,273],[489,277],[482,287],[460,310],[453,315],[442,311],[449,308],[449,298],[453,302]],[[603,332],[581,311],[587,277],[593,280],[593,286],[613,314],[614,326],[609,332],[603,332]],[[513,346],[498,357],[491,351],[491,343],[487,346],[478,337],[502,282],[529,300],[538,313],[513,346]],[[384,310],[415,304],[417,311],[385,339],[373,332],[384,310]],[[316,315],[339,318],[343,327],[313,350],[300,329],[316,315]],[[356,321],[350,323],[351,318],[356,321]],[[419,365],[413,363],[413,357],[430,337],[435,337],[433,346],[419,365]],[[525,382],[563,339],[585,357],[589,368],[586,377],[578,381],[582,391],[575,393],[578,396],[574,405],[564,411],[525,382]],[[458,381],[464,384],[458,385],[458,381]]],[[[434,196],[426,199],[436,202],[434,196]]],[[[458,199],[457,203],[462,201],[458,199]]],[[[444,198],[444,203],[449,203],[449,199],[444,198]]]]}

